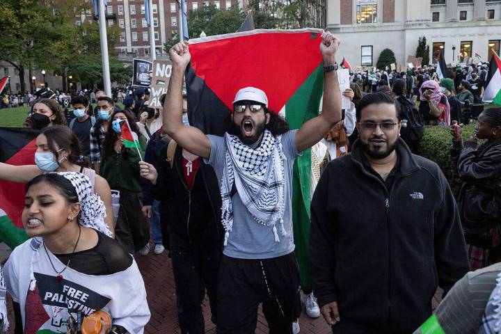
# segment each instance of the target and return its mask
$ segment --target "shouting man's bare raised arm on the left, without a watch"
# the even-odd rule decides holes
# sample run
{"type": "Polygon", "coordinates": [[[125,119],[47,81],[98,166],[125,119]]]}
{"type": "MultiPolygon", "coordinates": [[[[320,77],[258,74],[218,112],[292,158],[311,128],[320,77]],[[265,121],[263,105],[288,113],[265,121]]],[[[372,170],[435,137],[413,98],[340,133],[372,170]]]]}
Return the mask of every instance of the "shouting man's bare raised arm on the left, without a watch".
{"type": "Polygon", "coordinates": [[[162,129],[182,148],[199,157],[209,158],[211,149],[209,138],[200,129],[186,126],[182,122],[182,81],[191,59],[188,43],[177,43],[170,49],[169,54],[173,70],[162,113],[162,129]]]}

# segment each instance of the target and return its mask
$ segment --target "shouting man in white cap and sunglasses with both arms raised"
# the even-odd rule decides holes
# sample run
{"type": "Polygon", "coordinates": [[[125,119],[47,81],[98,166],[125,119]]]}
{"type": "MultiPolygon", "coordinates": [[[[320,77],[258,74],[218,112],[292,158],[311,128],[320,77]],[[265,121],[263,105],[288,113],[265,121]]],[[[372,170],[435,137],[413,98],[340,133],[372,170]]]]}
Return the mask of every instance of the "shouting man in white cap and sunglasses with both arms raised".
{"type": "MultiPolygon", "coordinates": [[[[230,102],[230,130],[223,136],[205,135],[196,127],[184,126],[182,81],[191,54],[187,42],[170,49],[173,69],[163,129],[180,146],[205,158],[221,184],[225,236],[217,296],[218,333],[253,333],[260,303],[272,333],[292,333],[299,298],[292,232],[292,166],[301,152],[318,143],[341,119],[335,71],[340,40],[328,32],[307,37],[320,45],[324,99],[321,116],[294,130],[288,130],[278,111],[269,109],[276,102],[250,85],[225,92],[234,99],[230,102]]],[[[262,52],[271,47],[276,45],[262,45],[262,52]]]]}

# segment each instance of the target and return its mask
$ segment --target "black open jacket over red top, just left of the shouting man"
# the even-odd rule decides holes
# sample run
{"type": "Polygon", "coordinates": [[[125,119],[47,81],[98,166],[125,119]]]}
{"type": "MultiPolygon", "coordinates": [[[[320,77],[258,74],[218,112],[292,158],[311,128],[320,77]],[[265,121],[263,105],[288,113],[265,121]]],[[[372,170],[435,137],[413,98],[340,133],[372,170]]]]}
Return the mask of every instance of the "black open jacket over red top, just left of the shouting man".
{"type": "MultiPolygon", "coordinates": [[[[167,148],[159,154],[167,157],[167,148]]],[[[221,224],[221,193],[214,169],[200,161],[191,190],[182,170],[182,148],[177,145],[173,168],[167,159],[158,159],[157,184],[153,196],[166,204],[172,232],[192,241],[219,242],[223,237],[221,224]]]]}

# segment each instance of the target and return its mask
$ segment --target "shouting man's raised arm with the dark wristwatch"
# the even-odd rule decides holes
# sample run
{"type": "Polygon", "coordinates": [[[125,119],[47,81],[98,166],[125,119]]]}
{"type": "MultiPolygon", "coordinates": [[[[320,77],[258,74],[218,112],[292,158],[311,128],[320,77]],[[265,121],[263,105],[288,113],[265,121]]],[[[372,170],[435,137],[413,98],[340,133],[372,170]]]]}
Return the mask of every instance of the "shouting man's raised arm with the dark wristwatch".
{"type": "MultiPolygon", "coordinates": [[[[331,33],[322,34],[320,51],[324,57],[324,66],[335,64],[335,53],[340,45],[340,40],[331,33]]],[[[296,146],[299,152],[312,147],[327,134],[329,129],[341,120],[341,91],[335,70],[325,72],[324,102],[322,113],[316,118],[305,122],[296,133],[296,146]]]]}

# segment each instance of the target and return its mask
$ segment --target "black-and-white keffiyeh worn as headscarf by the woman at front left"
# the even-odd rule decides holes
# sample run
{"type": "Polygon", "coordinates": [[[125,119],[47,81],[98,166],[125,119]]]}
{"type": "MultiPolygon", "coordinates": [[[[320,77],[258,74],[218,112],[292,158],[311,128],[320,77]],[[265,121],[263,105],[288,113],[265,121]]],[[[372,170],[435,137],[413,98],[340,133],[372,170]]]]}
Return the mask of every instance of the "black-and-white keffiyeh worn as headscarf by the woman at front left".
{"type": "Polygon", "coordinates": [[[81,205],[78,223],[87,228],[98,230],[108,237],[111,237],[112,233],[109,230],[109,226],[104,223],[106,207],[104,207],[104,202],[101,198],[93,193],[90,179],[86,175],[76,172],[58,172],[56,174],[69,180],[77,191],[81,205]]]}

